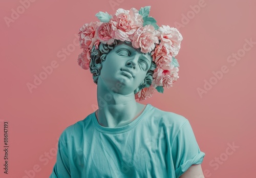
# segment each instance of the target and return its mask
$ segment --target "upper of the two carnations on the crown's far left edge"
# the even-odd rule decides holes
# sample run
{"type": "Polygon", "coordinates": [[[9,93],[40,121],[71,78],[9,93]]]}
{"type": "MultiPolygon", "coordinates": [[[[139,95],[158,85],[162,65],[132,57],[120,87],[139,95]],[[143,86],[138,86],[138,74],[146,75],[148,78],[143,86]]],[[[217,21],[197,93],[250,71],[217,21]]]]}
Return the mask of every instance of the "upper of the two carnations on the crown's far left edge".
{"type": "Polygon", "coordinates": [[[90,24],[84,24],[79,31],[79,42],[80,47],[84,50],[90,48],[92,49],[94,42],[97,40],[95,35],[95,30],[99,27],[101,23],[91,22],[90,24]]]}

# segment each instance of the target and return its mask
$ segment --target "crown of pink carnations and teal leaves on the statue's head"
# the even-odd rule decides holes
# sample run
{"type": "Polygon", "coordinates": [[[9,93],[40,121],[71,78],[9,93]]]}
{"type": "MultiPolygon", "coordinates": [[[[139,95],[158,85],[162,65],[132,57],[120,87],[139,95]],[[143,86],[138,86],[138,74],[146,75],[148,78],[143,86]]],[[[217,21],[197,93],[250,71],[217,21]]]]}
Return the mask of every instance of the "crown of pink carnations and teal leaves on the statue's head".
{"type": "Polygon", "coordinates": [[[95,16],[100,22],[84,24],[79,30],[80,48],[78,64],[88,70],[91,51],[99,48],[100,43],[112,44],[115,39],[130,41],[135,49],[150,53],[156,63],[153,81],[150,87],[144,87],[135,94],[135,98],[145,100],[156,91],[163,93],[163,87],[171,87],[179,78],[179,63],[175,56],[180,50],[182,35],[176,28],[162,25],[159,27],[153,17],[148,16],[150,6],[130,10],[118,9],[115,15],[98,12],[95,16]]]}

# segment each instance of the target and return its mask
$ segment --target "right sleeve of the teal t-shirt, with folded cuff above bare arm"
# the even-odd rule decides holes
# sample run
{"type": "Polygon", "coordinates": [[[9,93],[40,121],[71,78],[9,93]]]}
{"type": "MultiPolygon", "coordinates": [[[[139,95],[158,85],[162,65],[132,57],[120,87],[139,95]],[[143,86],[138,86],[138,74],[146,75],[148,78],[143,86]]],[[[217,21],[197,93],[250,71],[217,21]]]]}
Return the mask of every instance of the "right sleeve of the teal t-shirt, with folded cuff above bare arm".
{"type": "Polygon", "coordinates": [[[205,153],[200,151],[189,121],[179,129],[172,145],[176,177],[180,177],[191,165],[201,164],[205,153]]]}

